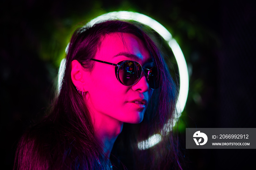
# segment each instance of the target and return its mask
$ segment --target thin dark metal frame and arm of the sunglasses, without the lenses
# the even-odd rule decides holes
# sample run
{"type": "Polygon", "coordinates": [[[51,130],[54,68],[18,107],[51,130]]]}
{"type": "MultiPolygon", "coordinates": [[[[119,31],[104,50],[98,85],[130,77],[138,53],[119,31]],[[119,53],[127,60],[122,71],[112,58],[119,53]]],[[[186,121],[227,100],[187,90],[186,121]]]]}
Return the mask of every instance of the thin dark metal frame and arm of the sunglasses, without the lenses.
{"type": "MultiPolygon", "coordinates": [[[[99,63],[104,63],[104,64],[109,64],[109,65],[116,66],[116,67],[118,67],[118,71],[119,71],[120,66],[121,66],[123,63],[125,63],[125,62],[127,62],[127,61],[132,61],[132,60],[124,60],[124,61],[121,61],[121,62],[120,62],[121,64],[119,65],[119,64],[109,63],[109,62],[107,62],[107,61],[97,60],[97,59],[94,59],[94,58],[91,58],[90,60],[97,61],[97,62],[99,62],[99,63]]],[[[132,61],[132,62],[138,63],[137,61],[132,61]]],[[[140,67],[142,68],[143,71],[144,71],[144,70],[147,70],[147,81],[149,81],[149,73],[150,73],[150,70],[151,70],[152,68],[156,67],[156,66],[154,66],[154,67],[148,69],[148,68],[143,68],[140,63],[138,63],[138,64],[140,65],[140,67]]],[[[118,82],[120,82],[120,83],[123,84],[124,86],[132,86],[132,85],[136,84],[136,83],[140,80],[140,78],[141,78],[141,76],[142,76],[142,73],[141,73],[139,79],[138,79],[136,82],[134,82],[134,83],[131,84],[131,85],[125,85],[125,84],[120,80],[119,75],[118,75],[118,71],[116,72],[117,80],[118,80],[118,82]]],[[[145,73],[145,71],[144,71],[144,73],[145,73]]],[[[151,87],[150,87],[150,88],[151,88],[151,87]]],[[[153,89],[153,88],[152,88],[152,89],[153,89]]]]}

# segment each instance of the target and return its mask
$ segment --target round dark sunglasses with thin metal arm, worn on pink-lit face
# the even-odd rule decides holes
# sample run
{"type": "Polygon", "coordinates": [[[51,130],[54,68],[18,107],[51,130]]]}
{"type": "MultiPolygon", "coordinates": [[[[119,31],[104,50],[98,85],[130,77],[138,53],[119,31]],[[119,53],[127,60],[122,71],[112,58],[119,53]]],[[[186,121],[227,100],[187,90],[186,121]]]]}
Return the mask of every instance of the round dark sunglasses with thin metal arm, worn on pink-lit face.
{"type": "Polygon", "coordinates": [[[116,78],[124,86],[132,86],[133,84],[137,83],[140,77],[142,76],[142,70],[143,70],[145,76],[147,76],[146,80],[149,87],[152,89],[156,89],[159,87],[158,71],[156,66],[148,69],[148,68],[142,68],[140,63],[136,61],[131,61],[131,60],[121,61],[118,64],[96,60],[93,58],[91,58],[91,60],[116,66],[115,68],[116,78]]]}

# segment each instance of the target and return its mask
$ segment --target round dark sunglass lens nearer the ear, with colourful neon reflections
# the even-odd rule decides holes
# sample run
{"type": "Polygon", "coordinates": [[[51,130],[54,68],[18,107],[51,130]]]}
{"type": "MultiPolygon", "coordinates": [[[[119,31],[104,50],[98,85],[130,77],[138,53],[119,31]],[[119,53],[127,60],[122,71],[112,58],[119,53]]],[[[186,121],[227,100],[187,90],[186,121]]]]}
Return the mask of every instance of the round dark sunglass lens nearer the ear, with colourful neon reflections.
{"type": "Polygon", "coordinates": [[[135,61],[125,61],[118,69],[119,79],[125,86],[136,83],[141,73],[142,67],[135,61]]]}

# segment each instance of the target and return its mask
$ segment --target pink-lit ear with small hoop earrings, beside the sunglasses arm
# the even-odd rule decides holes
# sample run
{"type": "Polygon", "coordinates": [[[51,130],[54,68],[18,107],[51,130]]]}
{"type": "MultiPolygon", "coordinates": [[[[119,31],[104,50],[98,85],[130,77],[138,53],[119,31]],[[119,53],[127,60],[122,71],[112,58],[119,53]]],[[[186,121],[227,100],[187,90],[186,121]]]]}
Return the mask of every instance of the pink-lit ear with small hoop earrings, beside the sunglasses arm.
{"type": "Polygon", "coordinates": [[[77,61],[73,60],[71,63],[71,80],[72,83],[80,91],[88,91],[88,80],[90,73],[83,70],[82,65],[77,61]]]}

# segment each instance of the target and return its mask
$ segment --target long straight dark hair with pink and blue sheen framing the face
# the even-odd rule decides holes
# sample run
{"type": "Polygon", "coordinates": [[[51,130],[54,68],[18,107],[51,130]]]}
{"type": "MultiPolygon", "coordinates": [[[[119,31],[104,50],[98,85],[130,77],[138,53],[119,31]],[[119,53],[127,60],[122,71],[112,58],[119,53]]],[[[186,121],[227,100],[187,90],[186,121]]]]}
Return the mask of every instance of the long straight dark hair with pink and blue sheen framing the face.
{"type": "MultiPolygon", "coordinates": [[[[161,134],[164,125],[175,117],[177,88],[161,53],[143,26],[120,20],[108,20],[83,27],[73,34],[66,57],[65,73],[59,95],[48,116],[22,136],[16,151],[14,169],[109,169],[108,156],[96,140],[89,111],[83,96],[71,80],[71,62],[91,71],[102,37],[110,33],[136,35],[154,58],[161,86],[153,96],[140,124],[124,124],[110,160],[113,169],[181,169],[177,137],[163,135],[157,145],[140,150],[138,143],[161,134]]],[[[165,127],[166,128],[166,127],[165,127]]],[[[167,126],[169,131],[172,127],[167,126]]]]}

